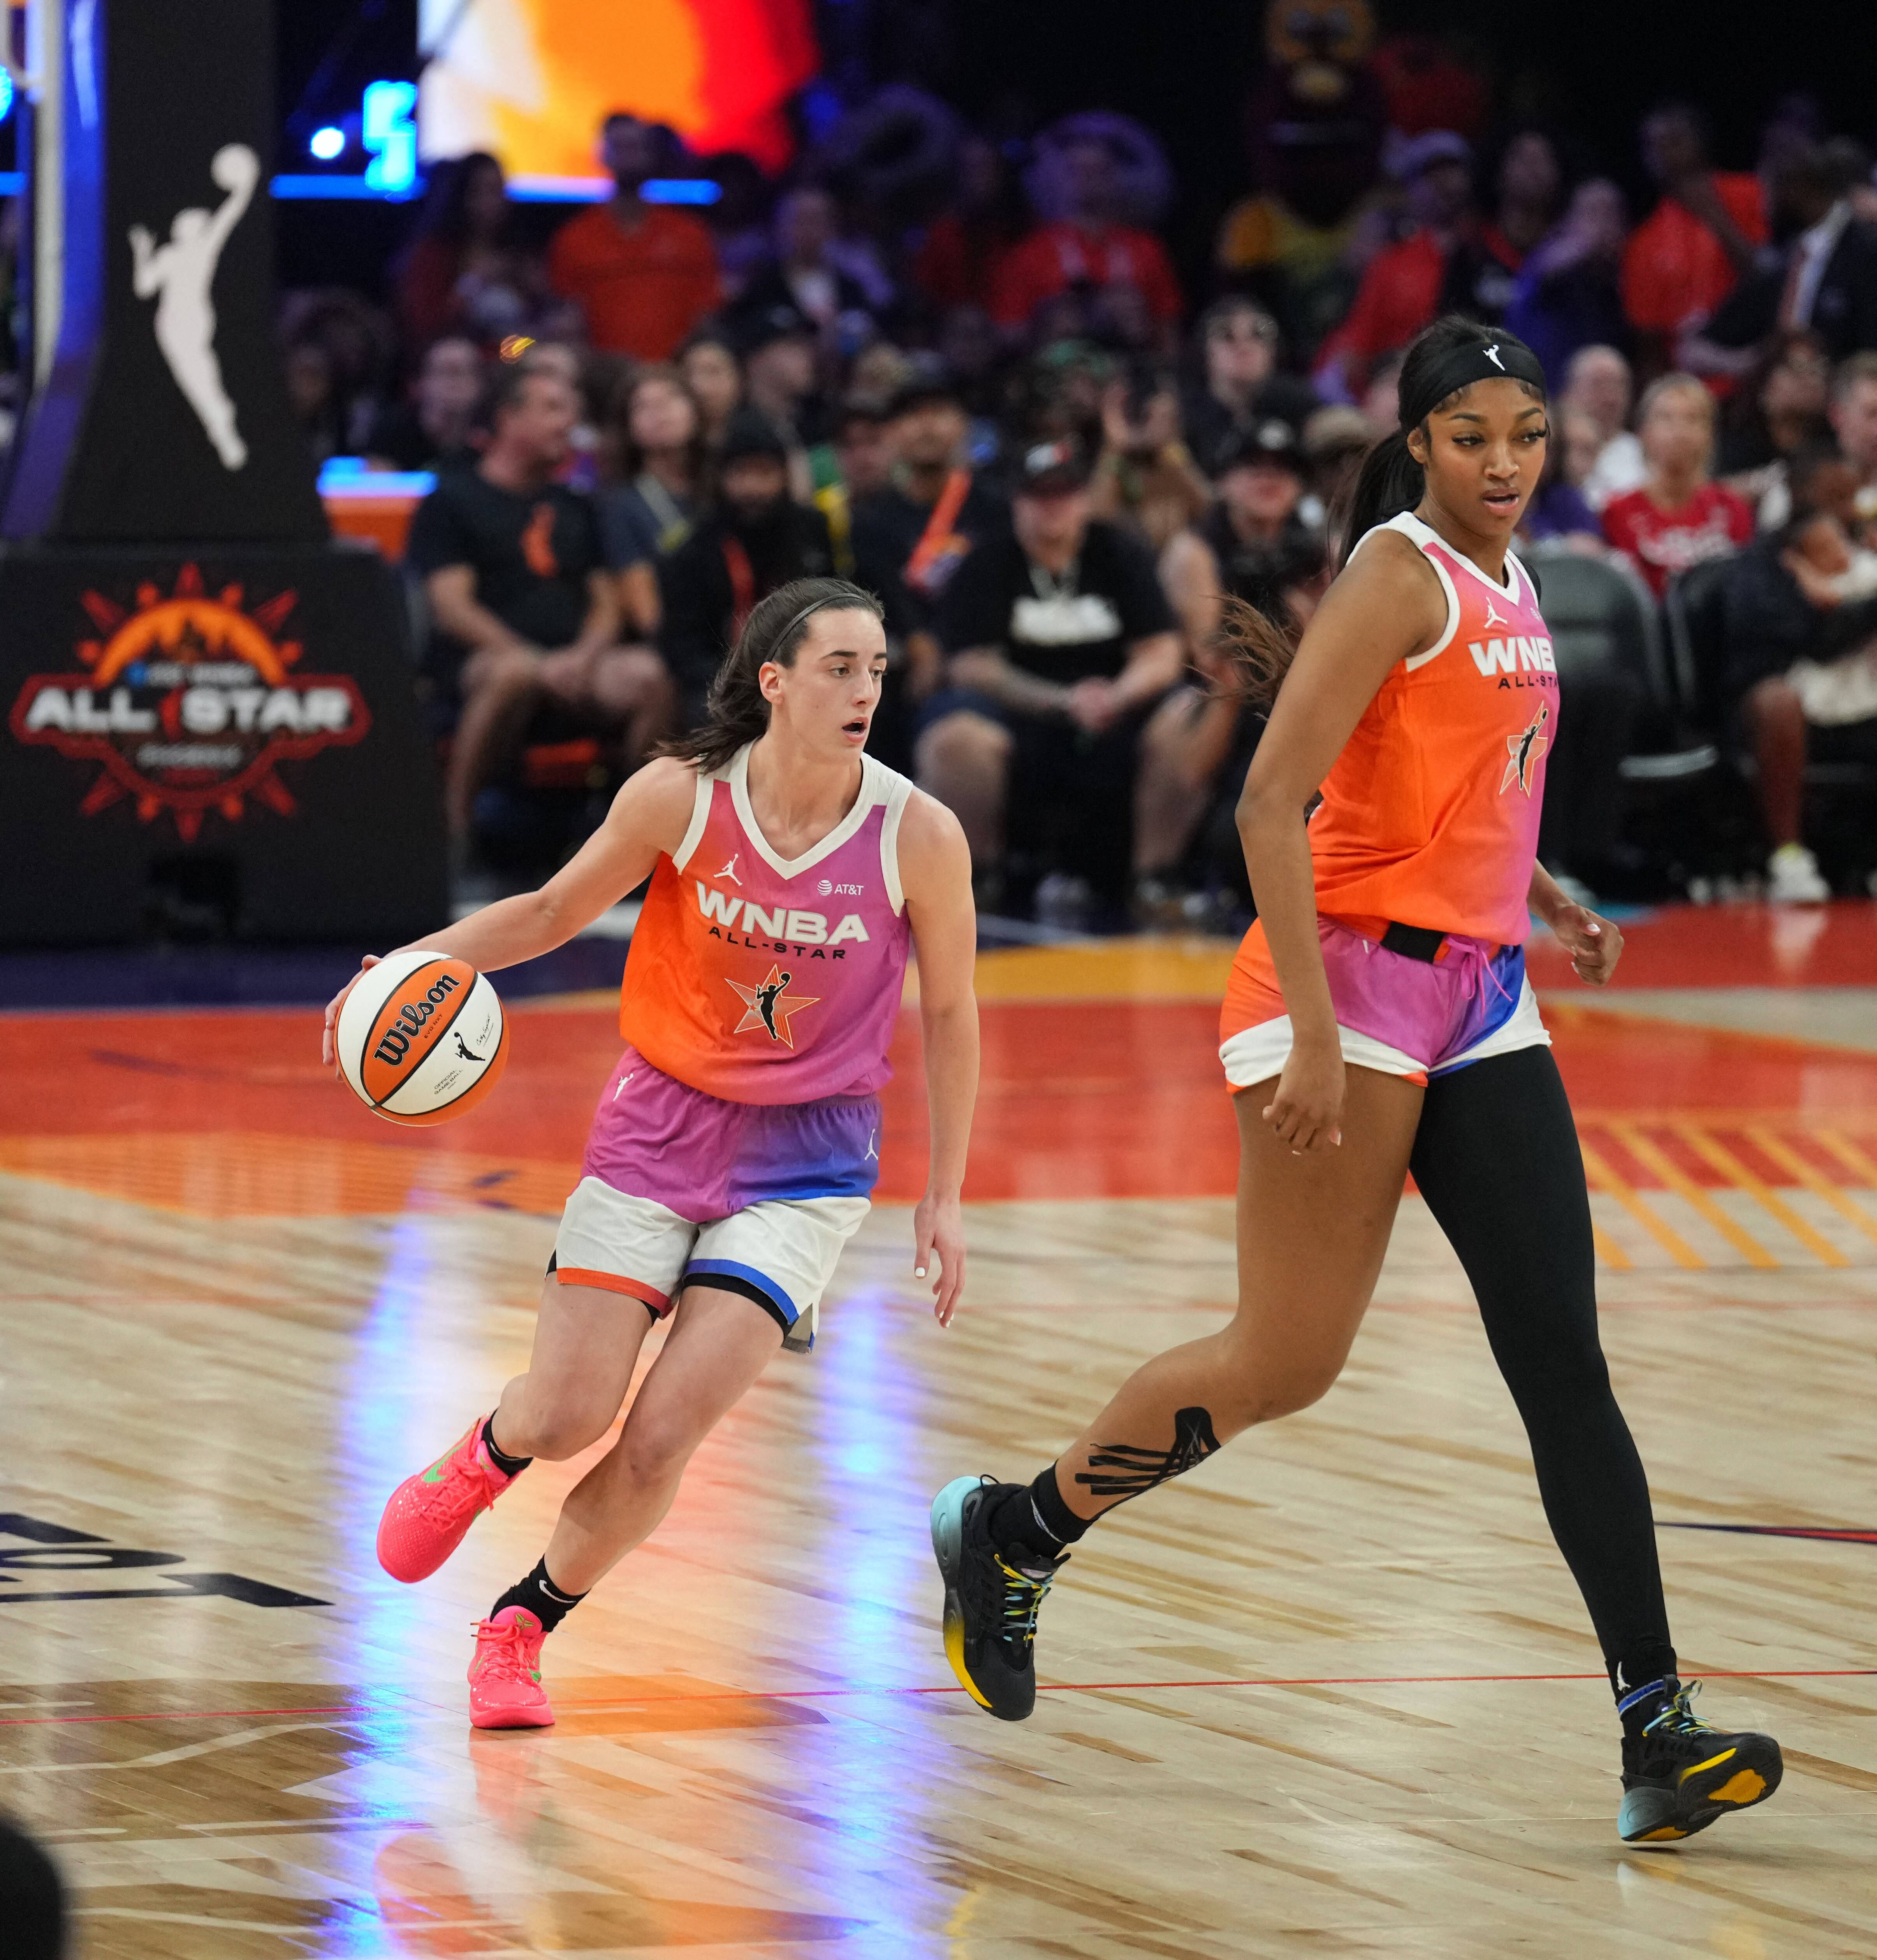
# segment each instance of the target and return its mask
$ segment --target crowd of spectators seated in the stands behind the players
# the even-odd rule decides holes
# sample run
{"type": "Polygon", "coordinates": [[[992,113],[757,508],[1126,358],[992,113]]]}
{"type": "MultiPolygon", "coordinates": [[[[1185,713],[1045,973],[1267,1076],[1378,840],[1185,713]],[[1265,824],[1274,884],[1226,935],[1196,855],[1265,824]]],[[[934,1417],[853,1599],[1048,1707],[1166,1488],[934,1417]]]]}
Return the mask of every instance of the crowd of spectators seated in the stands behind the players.
{"type": "MultiPolygon", "coordinates": [[[[1748,870],[1826,894],[1806,772],[1877,768],[1869,155],[1801,104],[1757,171],[1716,171],[1700,114],[1663,104],[1632,212],[1540,127],[1395,129],[1340,204],[1273,167],[1285,188],[1234,206],[1183,290],[1151,133],[1083,114],[1020,149],[892,94],[902,167],[836,131],[777,186],[610,116],[614,192],[545,247],[492,157],[433,165],[388,316],[290,296],[316,453],[437,474],[406,563],[465,855],[528,755],[618,780],[696,719],[765,592],[836,570],[887,606],[875,749],[959,813],[987,904],[1243,906],[1230,809],[1261,723],[1222,604],[1302,627],[1402,347],[1465,312],[1551,376],[1540,580],[1597,559],[1653,608],[1726,561],[1675,713],[1740,759],[1748,870]],[[724,194],[647,202],[671,174],[724,194]]],[[[1551,768],[1595,819],[1547,823],[1546,857],[1610,892],[1651,876],[1618,770],[1661,704],[1583,708],[1606,739],[1551,768]]]]}

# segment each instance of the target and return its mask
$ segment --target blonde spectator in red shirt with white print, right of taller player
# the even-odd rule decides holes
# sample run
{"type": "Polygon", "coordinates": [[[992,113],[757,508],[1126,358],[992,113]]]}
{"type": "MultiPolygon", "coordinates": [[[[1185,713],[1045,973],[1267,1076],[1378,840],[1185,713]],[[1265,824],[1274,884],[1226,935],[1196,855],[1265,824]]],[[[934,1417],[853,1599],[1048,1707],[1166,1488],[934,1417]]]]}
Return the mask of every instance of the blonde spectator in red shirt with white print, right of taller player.
{"type": "Polygon", "coordinates": [[[1649,480],[1604,504],[1602,535],[1661,598],[1675,572],[1750,543],[1753,512],[1746,498],[1708,474],[1714,396],[1695,374],[1663,374],[1651,382],[1636,433],[1649,480]]]}

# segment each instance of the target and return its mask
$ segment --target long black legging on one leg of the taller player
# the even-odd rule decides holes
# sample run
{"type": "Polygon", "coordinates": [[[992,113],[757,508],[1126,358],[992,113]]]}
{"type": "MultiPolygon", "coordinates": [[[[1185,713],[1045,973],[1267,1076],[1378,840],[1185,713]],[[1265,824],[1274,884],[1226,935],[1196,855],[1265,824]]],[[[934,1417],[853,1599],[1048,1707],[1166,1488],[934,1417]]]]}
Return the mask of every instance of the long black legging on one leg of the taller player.
{"type": "Polygon", "coordinates": [[[1597,1339],[1591,1200],[1551,1051],[1428,1084],[1410,1168],[1473,1282],[1610,1680],[1673,1674],[1649,1484],[1597,1339]]]}

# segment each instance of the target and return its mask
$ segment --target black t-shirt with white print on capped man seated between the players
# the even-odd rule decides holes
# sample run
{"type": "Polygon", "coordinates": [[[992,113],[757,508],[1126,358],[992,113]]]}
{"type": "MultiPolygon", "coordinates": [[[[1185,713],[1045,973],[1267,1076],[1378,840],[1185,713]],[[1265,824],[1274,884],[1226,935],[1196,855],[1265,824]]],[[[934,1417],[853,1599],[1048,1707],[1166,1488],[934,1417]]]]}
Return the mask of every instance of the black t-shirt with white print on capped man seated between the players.
{"type": "Polygon", "coordinates": [[[1063,578],[1032,564],[1016,533],[987,539],[939,602],[947,653],[989,647],[1041,680],[1112,678],[1132,641],[1171,633],[1173,613],[1145,545],[1091,523],[1063,578]]]}

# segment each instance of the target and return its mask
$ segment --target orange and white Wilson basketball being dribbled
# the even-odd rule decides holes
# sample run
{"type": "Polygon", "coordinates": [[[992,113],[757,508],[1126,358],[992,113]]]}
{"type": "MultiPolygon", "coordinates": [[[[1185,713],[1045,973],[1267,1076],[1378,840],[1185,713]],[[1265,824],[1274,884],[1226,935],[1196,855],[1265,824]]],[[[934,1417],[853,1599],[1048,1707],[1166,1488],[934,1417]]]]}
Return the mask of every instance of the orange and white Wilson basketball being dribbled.
{"type": "Polygon", "coordinates": [[[447,953],[392,953],[359,976],[335,1031],[339,1068],[388,1123],[447,1123],[473,1109],[508,1060],[488,980],[447,953]]]}

